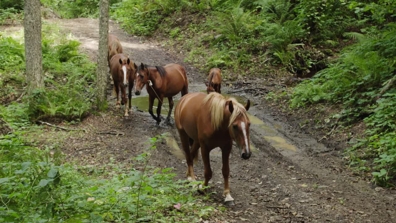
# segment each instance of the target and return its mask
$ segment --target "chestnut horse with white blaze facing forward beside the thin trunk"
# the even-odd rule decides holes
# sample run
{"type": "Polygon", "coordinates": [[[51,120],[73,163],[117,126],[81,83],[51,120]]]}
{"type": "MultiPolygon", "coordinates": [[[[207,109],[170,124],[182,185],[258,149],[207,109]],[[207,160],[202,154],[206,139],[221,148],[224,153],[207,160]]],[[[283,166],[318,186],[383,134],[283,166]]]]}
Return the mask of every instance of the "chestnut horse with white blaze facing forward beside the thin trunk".
{"type": "Polygon", "coordinates": [[[131,60],[129,60],[128,56],[124,54],[116,54],[110,60],[110,73],[113,79],[114,87],[113,87],[113,95],[117,94],[117,102],[116,107],[120,107],[120,101],[118,100],[119,91],[121,89],[121,104],[125,104],[125,114],[128,115],[127,109],[127,98],[126,98],[126,86],[128,85],[128,99],[129,99],[129,112],[132,112],[131,106],[131,98],[132,98],[132,88],[133,81],[135,81],[135,70],[137,67],[131,60]],[[129,83],[129,84],[128,84],[129,83]]]}

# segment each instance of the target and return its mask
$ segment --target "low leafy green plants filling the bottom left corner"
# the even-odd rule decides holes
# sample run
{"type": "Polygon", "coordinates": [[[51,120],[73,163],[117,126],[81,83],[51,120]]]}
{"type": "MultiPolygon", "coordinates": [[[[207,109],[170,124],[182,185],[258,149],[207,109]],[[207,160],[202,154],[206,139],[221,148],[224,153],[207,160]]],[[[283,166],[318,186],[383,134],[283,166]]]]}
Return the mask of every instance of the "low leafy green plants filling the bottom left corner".
{"type": "Polygon", "coordinates": [[[147,166],[145,160],[161,138],[151,138],[150,148],[133,164],[110,162],[94,167],[93,172],[100,175],[88,176],[82,171],[86,167],[62,164],[56,147],[40,150],[19,133],[0,136],[0,221],[192,222],[205,218],[215,208],[195,202],[202,198],[192,195],[192,185],[175,181],[172,168],[147,166]],[[180,210],[173,207],[178,203],[180,210]]]}

